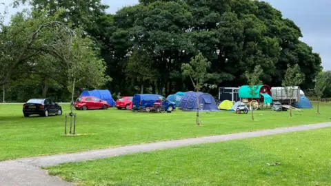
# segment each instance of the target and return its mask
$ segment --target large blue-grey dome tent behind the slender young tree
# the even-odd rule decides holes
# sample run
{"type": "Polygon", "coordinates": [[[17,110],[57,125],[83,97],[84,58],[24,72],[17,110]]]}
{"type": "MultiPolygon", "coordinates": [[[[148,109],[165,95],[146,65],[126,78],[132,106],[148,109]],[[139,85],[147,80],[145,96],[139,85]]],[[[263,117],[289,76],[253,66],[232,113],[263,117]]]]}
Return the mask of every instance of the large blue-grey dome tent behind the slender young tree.
{"type": "Polygon", "coordinates": [[[179,103],[179,109],[186,111],[197,110],[197,99],[199,99],[199,110],[201,111],[219,111],[215,99],[210,94],[202,92],[186,92],[179,103]]]}

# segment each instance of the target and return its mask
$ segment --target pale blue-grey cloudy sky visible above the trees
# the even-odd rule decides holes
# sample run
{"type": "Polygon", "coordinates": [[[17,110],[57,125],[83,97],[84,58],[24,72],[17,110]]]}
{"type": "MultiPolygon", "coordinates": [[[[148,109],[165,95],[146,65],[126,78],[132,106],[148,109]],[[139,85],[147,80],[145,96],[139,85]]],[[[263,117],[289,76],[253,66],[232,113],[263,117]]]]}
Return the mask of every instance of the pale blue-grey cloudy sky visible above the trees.
{"type": "MultiPolygon", "coordinates": [[[[108,4],[110,13],[117,12],[123,6],[132,6],[139,0],[101,0],[108,4]]],[[[283,17],[291,19],[303,34],[301,39],[312,46],[314,52],[321,55],[324,70],[331,70],[331,1],[330,0],[264,0],[283,13],[283,17]],[[314,3],[313,3],[314,2],[314,3]]],[[[7,6],[12,0],[0,0],[7,6]]],[[[10,15],[23,8],[9,8],[10,15]]],[[[0,12],[4,6],[0,5],[0,12]]]]}

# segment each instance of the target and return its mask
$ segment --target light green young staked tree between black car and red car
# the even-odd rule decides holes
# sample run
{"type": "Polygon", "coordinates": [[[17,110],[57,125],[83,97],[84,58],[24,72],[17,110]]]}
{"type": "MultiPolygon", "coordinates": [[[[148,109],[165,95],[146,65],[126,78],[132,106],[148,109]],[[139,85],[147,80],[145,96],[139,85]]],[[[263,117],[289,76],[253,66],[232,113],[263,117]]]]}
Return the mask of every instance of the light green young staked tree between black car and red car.
{"type": "MultiPolygon", "coordinates": [[[[57,43],[59,48],[45,46],[44,50],[59,57],[63,62],[61,65],[66,69],[68,76],[68,90],[71,92],[71,103],[74,103],[74,90],[76,83],[88,84],[91,87],[100,87],[108,81],[110,76],[106,75],[106,64],[97,57],[92,39],[83,37],[83,30],[77,28],[73,34],[57,43]]],[[[70,107],[71,112],[73,104],[70,107]]]]}

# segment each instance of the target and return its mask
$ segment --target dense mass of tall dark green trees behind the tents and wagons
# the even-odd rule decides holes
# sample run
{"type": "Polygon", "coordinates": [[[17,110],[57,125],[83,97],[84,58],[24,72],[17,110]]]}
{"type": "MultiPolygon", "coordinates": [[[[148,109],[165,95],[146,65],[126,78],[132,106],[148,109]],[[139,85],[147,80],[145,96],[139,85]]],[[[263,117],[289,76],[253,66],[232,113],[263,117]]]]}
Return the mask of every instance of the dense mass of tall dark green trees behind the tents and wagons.
{"type": "MultiPolygon", "coordinates": [[[[107,14],[99,0],[79,1],[74,8],[66,1],[17,2],[39,11],[67,10],[59,20],[83,28],[94,39],[112,77],[106,86],[116,94],[193,90],[181,66],[200,52],[211,62],[206,83],[220,86],[247,84],[245,72],[256,65],[263,70],[263,83],[280,86],[288,65],[298,64],[301,88],[308,90],[322,69],[319,54],[299,40],[299,27],[263,1],[141,0],[116,14],[107,14]]],[[[63,92],[56,87],[47,95],[63,92]]]]}

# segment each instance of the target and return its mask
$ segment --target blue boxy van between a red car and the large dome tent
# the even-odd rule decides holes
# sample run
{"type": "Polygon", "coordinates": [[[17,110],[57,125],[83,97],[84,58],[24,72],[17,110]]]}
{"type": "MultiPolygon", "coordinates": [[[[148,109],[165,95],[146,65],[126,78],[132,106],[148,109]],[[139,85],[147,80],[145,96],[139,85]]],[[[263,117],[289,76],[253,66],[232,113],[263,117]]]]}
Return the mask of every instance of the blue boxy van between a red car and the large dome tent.
{"type": "Polygon", "coordinates": [[[132,110],[141,110],[147,107],[153,107],[153,104],[161,100],[162,105],[165,110],[174,110],[176,108],[176,103],[168,101],[165,97],[157,94],[134,94],[132,99],[132,110]]]}

